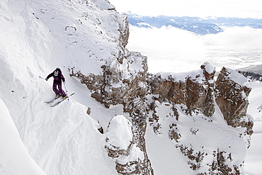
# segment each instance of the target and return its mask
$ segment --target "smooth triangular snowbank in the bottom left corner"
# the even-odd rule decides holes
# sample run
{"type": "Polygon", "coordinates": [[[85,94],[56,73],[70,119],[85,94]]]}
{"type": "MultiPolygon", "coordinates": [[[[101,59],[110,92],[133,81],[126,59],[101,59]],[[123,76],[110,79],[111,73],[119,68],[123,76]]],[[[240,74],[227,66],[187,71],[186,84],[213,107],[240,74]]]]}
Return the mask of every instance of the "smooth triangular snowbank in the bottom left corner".
{"type": "Polygon", "coordinates": [[[21,141],[8,108],[0,99],[0,174],[42,174],[21,141]]]}

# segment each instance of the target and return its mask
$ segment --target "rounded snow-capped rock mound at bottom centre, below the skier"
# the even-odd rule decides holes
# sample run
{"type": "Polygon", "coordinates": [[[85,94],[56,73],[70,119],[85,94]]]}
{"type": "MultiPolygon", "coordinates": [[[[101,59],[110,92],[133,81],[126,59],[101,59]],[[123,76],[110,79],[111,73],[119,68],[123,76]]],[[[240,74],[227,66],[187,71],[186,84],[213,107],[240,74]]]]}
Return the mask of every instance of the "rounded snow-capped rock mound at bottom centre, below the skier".
{"type": "Polygon", "coordinates": [[[123,115],[110,120],[106,137],[108,156],[116,159],[115,169],[120,174],[141,174],[144,152],[135,145],[132,123],[123,115]]]}

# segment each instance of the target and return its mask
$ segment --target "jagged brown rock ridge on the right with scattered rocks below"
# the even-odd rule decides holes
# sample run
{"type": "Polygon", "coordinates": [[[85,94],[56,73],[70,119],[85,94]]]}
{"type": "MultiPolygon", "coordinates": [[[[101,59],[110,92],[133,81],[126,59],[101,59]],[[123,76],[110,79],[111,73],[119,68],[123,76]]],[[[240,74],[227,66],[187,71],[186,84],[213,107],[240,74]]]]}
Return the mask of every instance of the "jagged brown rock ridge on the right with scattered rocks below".
{"type": "MultiPolygon", "coordinates": [[[[173,111],[173,113],[169,115],[176,118],[176,120],[169,124],[169,138],[177,142],[176,148],[180,149],[181,153],[188,157],[188,164],[195,171],[206,166],[203,164],[203,159],[209,155],[205,149],[195,152],[193,145],[184,145],[181,142],[183,133],[179,130],[181,124],[178,124],[178,120],[183,116],[179,115],[179,108],[186,115],[203,113],[207,117],[212,117],[215,113],[216,103],[228,125],[234,128],[244,128],[239,135],[246,142],[246,147],[250,145],[250,136],[253,132],[253,122],[246,114],[247,96],[249,96],[251,89],[248,84],[238,82],[241,79],[247,83],[246,79],[234,72],[234,70],[223,67],[217,81],[214,81],[215,69],[210,69],[210,67],[208,63],[201,65],[202,70],[195,72],[195,77],[192,75],[185,76],[183,81],[181,79],[176,80],[176,75],[171,74],[165,78],[161,78],[161,75],[152,75],[147,79],[149,94],[154,94],[153,101],[149,103],[149,108],[152,111],[152,114],[149,115],[149,124],[156,135],[162,134],[161,129],[163,126],[159,124],[161,123],[159,122],[160,116],[156,113],[156,108],[160,108],[160,106],[156,101],[171,106],[170,111],[173,111]],[[232,79],[230,77],[237,78],[232,79]],[[180,104],[186,106],[180,106],[180,104]]],[[[212,123],[213,118],[205,118],[205,120],[212,123]]],[[[195,119],[193,122],[195,122],[195,119]]],[[[190,128],[193,135],[198,135],[199,130],[201,128],[190,128]]],[[[228,161],[233,162],[232,157],[228,155],[231,155],[231,153],[220,149],[214,150],[216,159],[207,164],[210,168],[207,168],[204,172],[200,171],[198,174],[239,174],[243,164],[227,164],[228,161]]]]}

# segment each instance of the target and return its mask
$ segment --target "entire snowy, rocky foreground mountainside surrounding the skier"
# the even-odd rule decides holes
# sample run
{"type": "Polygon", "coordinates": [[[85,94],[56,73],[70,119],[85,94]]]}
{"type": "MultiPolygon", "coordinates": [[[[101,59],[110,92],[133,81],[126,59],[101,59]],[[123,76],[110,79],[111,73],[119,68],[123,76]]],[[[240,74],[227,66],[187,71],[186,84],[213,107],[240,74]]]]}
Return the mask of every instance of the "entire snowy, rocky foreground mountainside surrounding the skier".
{"type": "Polygon", "coordinates": [[[253,121],[243,76],[223,68],[215,79],[208,62],[148,74],[147,57],[125,48],[127,16],[106,0],[0,9],[1,130],[16,133],[0,135],[1,174],[244,173],[253,121]],[[56,67],[76,94],[50,108],[52,81],[39,76],[56,67]],[[5,154],[14,145],[21,161],[5,154]]]}

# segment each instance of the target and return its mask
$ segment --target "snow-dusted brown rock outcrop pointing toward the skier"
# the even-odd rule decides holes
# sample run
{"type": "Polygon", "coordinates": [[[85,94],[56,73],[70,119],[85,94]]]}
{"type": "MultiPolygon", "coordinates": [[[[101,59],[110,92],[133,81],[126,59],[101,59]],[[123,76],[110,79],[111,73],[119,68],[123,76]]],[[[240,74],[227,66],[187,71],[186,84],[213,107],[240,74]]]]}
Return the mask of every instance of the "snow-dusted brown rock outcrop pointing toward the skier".
{"type": "Polygon", "coordinates": [[[84,75],[81,71],[75,72],[74,68],[70,75],[81,79],[81,83],[92,91],[91,96],[107,108],[117,104],[127,107],[130,101],[145,96],[147,92],[147,57],[138,52],[126,52],[123,64],[113,57],[107,65],[103,65],[103,75],[84,75]]]}

